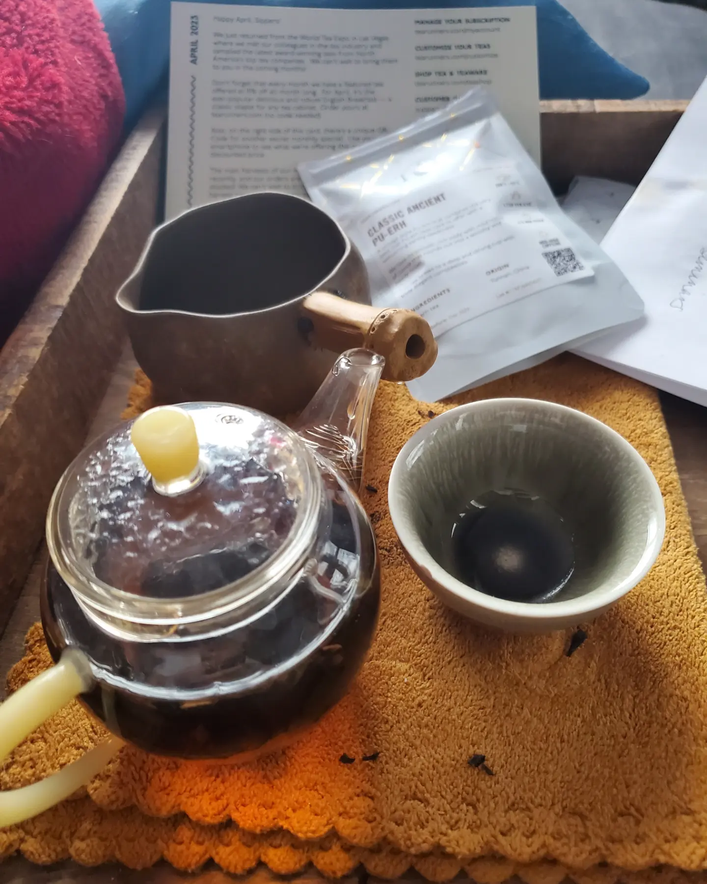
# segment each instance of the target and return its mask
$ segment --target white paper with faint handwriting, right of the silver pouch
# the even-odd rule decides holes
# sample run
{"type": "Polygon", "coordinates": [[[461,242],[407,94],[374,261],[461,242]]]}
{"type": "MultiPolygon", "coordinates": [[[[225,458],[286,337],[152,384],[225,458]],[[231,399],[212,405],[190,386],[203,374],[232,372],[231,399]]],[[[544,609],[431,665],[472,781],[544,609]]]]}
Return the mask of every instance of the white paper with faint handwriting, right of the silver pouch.
{"type": "Polygon", "coordinates": [[[602,248],[645,316],[581,354],[707,406],[707,80],[602,248]]]}

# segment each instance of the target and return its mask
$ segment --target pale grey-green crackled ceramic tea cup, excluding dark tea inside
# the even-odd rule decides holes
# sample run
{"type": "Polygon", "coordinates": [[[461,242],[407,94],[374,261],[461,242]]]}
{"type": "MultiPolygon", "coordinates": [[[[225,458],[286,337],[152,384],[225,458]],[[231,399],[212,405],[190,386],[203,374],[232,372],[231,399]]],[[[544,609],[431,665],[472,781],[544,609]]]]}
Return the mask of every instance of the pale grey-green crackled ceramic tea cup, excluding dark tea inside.
{"type": "Polygon", "coordinates": [[[516,633],[597,617],[648,573],[665,534],[658,483],[635,448],[604,423],[539,400],[484,400],[437,416],[400,451],[388,502],[430,590],[471,620],[516,633]],[[460,579],[455,516],[509,489],[544,501],[571,540],[571,575],[549,601],[498,598],[460,579]]]}

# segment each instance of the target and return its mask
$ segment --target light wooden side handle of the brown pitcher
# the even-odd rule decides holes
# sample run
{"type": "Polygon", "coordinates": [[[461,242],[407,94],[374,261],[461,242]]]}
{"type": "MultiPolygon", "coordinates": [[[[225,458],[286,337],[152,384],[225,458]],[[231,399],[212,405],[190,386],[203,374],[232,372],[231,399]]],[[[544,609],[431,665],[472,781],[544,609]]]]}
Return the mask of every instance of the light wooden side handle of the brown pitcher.
{"type": "Polygon", "coordinates": [[[315,292],[302,301],[302,315],[312,324],[309,339],[315,347],[334,353],[365,347],[384,356],[386,381],[414,380],[437,359],[430,324],[412,310],[381,310],[315,292]]]}

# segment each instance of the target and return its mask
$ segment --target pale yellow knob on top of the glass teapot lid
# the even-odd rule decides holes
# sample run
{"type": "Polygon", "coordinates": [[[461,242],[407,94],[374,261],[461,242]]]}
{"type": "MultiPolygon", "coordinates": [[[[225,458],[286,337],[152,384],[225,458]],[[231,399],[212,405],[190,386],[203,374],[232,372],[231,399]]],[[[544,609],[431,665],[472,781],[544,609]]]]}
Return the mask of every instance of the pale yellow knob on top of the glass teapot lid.
{"type": "Polygon", "coordinates": [[[194,420],[181,408],[150,408],[133,423],[130,438],[156,485],[192,476],[199,466],[194,420]]]}

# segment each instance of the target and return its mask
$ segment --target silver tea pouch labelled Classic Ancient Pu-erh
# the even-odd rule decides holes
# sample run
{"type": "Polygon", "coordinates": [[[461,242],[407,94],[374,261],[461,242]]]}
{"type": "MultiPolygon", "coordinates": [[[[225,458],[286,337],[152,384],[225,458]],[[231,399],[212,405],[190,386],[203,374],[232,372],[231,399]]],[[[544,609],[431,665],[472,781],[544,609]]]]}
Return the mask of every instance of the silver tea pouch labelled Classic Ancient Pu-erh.
{"type": "Polygon", "coordinates": [[[430,323],[439,354],[408,384],[418,399],[528,368],[642,316],[627,278],[559,208],[483,88],[299,171],[361,251],[376,307],[430,323]]]}

